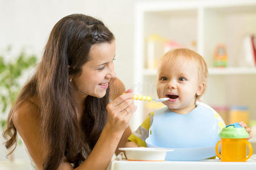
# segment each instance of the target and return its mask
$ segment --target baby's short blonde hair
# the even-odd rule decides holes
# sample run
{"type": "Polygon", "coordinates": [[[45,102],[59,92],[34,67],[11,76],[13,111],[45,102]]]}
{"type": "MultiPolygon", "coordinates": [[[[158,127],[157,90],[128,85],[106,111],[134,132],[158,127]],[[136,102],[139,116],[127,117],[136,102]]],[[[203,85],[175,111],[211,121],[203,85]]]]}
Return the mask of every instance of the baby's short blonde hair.
{"type": "MultiPolygon", "coordinates": [[[[168,65],[172,65],[176,62],[176,59],[184,59],[187,62],[194,62],[197,67],[197,74],[199,77],[199,82],[205,82],[204,90],[202,95],[204,94],[205,87],[206,87],[206,80],[208,76],[208,68],[207,63],[205,62],[204,58],[194,52],[191,49],[187,48],[177,48],[174,50],[170,50],[169,52],[165,53],[164,56],[160,59],[160,63],[164,62],[168,65]]],[[[196,100],[200,99],[201,95],[196,95],[196,100]]]]}

